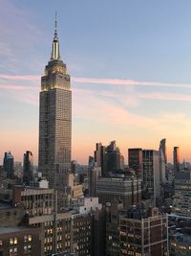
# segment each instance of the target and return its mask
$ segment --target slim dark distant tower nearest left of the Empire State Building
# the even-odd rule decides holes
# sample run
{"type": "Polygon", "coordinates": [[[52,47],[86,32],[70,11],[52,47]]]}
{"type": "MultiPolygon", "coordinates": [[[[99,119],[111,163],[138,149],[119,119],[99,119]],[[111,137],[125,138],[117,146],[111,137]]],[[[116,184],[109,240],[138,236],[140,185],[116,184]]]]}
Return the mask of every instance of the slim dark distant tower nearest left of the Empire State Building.
{"type": "Polygon", "coordinates": [[[26,151],[23,156],[23,182],[30,185],[33,177],[33,155],[32,151],[26,151]]]}

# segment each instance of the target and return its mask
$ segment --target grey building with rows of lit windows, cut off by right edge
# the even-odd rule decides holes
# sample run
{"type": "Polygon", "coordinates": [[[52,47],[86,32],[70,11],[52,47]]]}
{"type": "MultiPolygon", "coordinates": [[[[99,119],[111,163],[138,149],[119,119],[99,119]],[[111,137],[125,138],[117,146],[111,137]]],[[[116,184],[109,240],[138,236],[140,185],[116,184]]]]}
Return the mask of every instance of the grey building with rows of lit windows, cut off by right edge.
{"type": "Polygon", "coordinates": [[[177,172],[174,181],[174,214],[191,217],[191,172],[177,172]]]}

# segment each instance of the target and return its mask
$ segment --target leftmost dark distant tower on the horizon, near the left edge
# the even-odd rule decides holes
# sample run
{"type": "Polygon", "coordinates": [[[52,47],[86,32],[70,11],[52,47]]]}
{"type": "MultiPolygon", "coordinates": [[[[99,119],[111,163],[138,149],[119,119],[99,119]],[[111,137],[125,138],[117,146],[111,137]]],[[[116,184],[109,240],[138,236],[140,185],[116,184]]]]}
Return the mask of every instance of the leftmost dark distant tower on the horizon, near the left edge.
{"type": "Polygon", "coordinates": [[[14,157],[11,154],[11,151],[5,152],[3,160],[3,168],[6,172],[8,178],[13,178],[14,176],[14,157]]]}

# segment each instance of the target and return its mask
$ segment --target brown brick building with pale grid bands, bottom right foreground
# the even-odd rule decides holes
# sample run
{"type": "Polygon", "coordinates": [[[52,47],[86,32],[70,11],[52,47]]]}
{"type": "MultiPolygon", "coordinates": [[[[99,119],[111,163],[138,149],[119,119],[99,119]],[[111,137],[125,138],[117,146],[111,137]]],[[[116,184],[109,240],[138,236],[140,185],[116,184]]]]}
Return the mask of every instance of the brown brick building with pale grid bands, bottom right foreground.
{"type": "Polygon", "coordinates": [[[168,219],[153,208],[149,217],[133,209],[119,217],[119,255],[168,255],[168,219]]]}

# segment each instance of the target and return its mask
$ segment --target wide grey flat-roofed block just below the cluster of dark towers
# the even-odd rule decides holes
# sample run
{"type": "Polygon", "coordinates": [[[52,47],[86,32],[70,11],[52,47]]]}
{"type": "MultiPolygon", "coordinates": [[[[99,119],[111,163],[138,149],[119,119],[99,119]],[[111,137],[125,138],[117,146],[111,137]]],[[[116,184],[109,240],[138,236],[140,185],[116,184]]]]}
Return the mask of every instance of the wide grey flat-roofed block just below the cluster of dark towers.
{"type": "Polygon", "coordinates": [[[96,197],[106,204],[121,199],[128,208],[141,202],[141,180],[134,177],[98,177],[96,197]]]}

